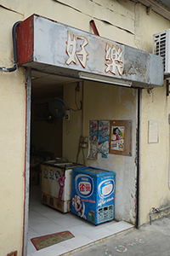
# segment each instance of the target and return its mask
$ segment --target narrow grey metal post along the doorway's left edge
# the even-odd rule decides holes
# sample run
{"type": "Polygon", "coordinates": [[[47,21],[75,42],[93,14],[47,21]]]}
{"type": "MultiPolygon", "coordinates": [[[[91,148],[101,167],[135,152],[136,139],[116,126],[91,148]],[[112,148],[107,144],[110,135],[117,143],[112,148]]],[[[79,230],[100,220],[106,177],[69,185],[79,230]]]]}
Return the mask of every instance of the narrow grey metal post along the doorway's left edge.
{"type": "Polygon", "coordinates": [[[28,213],[30,187],[30,134],[31,134],[31,69],[26,69],[26,147],[25,147],[25,205],[22,256],[27,255],[28,213]]]}

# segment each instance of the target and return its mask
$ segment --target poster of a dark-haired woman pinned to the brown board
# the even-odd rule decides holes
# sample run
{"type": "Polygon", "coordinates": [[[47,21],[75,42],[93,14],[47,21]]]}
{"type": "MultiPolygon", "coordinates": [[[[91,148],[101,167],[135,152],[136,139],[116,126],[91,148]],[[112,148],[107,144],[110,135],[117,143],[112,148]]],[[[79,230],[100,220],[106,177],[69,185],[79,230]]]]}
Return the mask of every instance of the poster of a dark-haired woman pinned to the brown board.
{"type": "Polygon", "coordinates": [[[124,149],[124,126],[111,126],[111,149],[123,151],[124,149]]]}

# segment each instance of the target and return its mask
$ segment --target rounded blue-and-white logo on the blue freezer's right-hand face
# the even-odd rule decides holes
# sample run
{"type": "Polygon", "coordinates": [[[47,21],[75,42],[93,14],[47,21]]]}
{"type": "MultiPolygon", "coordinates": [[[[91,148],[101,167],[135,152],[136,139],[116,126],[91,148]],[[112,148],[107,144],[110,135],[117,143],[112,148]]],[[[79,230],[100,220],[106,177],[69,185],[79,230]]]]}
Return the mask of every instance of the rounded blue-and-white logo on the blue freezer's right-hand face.
{"type": "Polygon", "coordinates": [[[112,179],[107,179],[99,183],[98,192],[100,197],[107,197],[113,193],[115,189],[115,183],[112,179]]]}

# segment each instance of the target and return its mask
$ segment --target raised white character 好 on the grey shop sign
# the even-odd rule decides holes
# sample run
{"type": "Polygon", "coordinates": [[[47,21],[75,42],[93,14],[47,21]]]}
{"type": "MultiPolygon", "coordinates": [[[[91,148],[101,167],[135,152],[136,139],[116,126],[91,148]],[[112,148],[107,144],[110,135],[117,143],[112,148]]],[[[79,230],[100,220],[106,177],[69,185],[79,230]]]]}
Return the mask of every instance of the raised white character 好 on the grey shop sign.
{"type": "Polygon", "coordinates": [[[69,56],[65,63],[70,65],[71,62],[77,64],[77,60],[80,62],[82,67],[86,67],[88,51],[85,49],[88,44],[88,38],[83,36],[76,37],[73,34],[73,38],[71,38],[71,32],[67,32],[67,42],[66,42],[66,54],[69,56]],[[77,50],[77,46],[81,49],[77,50]],[[77,57],[77,58],[76,58],[77,57]]]}

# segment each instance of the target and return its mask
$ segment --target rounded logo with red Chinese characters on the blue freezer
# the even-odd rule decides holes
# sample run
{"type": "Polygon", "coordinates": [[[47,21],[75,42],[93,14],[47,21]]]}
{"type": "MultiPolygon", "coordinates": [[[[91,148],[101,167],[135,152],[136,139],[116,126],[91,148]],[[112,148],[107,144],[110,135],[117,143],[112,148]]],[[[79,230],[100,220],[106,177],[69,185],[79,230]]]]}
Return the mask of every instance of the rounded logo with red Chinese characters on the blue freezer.
{"type": "Polygon", "coordinates": [[[75,178],[75,189],[78,195],[88,197],[94,192],[94,182],[88,175],[78,174],[75,178]]]}

